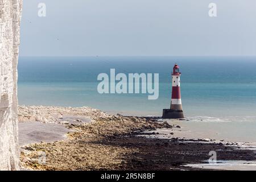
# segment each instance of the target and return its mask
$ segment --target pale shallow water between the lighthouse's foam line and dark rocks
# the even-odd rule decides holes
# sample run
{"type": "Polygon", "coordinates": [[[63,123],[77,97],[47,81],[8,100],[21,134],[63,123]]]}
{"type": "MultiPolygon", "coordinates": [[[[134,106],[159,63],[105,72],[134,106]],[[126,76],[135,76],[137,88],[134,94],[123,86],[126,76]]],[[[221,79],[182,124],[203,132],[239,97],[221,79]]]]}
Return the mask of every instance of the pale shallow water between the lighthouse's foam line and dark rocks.
{"type": "Polygon", "coordinates": [[[181,129],[174,131],[160,129],[162,133],[174,132],[174,137],[188,139],[215,139],[224,142],[245,143],[256,146],[256,122],[253,121],[168,121],[171,125],[179,125],[181,129]]]}

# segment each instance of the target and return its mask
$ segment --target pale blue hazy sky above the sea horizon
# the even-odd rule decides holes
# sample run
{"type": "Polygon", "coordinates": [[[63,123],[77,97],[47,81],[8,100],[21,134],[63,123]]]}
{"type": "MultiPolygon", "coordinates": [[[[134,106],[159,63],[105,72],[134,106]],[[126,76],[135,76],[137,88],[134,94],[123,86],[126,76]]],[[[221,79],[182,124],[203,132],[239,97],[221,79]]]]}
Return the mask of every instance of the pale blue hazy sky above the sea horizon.
{"type": "Polygon", "coordinates": [[[24,0],[21,26],[21,56],[256,55],[255,0],[24,0]]]}

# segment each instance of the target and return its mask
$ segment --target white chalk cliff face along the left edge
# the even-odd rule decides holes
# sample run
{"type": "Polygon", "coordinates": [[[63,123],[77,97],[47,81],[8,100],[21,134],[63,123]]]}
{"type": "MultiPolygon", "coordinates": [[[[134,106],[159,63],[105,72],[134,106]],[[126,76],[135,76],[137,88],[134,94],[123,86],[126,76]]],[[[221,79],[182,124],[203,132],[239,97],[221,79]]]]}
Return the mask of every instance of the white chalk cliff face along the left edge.
{"type": "Polygon", "coordinates": [[[17,63],[22,0],[0,0],[0,170],[19,169],[17,63]]]}

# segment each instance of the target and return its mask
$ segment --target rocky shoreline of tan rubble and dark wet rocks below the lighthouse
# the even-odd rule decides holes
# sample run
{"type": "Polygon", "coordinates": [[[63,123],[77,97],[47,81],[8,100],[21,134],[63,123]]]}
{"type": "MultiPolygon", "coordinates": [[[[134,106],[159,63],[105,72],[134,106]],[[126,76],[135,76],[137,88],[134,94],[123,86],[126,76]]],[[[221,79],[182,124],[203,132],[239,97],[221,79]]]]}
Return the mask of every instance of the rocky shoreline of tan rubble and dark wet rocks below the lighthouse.
{"type": "Polygon", "coordinates": [[[22,146],[22,167],[32,170],[197,170],[184,164],[208,160],[209,151],[218,151],[218,160],[255,160],[253,151],[228,143],[175,138],[173,133],[168,138],[148,138],[158,135],[156,129],[179,126],[90,107],[20,106],[19,121],[59,123],[71,131],[64,140],[22,146]],[[67,115],[69,121],[63,121],[67,115]]]}

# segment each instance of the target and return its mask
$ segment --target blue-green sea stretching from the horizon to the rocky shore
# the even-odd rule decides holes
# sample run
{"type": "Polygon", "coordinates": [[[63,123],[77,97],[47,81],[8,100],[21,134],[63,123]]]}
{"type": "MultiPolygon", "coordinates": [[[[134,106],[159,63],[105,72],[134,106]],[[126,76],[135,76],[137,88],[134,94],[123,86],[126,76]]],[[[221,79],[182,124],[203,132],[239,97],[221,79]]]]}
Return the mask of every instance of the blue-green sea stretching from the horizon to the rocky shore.
{"type": "Polygon", "coordinates": [[[90,106],[111,114],[161,116],[170,107],[175,63],[180,67],[181,100],[188,120],[180,122],[187,122],[195,132],[203,127],[205,133],[217,130],[218,137],[256,142],[254,56],[19,57],[19,105],[90,106]],[[110,69],[126,75],[159,73],[159,98],[98,93],[97,76],[110,75],[110,69]]]}

